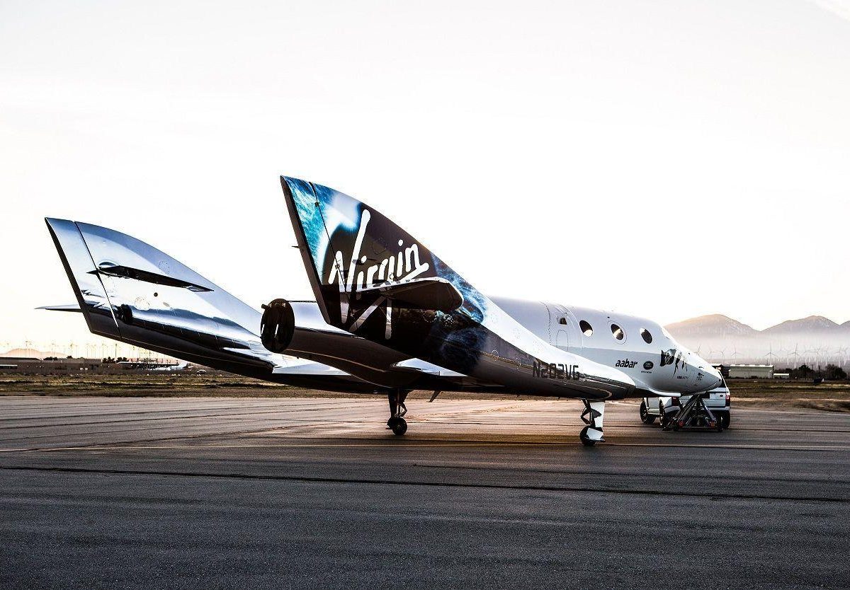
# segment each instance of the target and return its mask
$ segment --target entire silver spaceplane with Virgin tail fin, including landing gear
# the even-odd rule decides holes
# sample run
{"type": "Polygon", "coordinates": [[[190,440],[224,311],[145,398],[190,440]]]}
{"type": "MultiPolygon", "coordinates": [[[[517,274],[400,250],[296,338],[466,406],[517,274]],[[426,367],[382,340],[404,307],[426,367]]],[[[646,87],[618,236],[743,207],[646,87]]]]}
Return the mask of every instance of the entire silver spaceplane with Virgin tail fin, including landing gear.
{"type": "MultiPolygon", "coordinates": [[[[47,218],[88,329],[235,374],[387,396],[407,430],[414,390],[581,400],[581,441],[604,441],[605,402],[709,391],[711,364],[643,317],[484,295],[353,197],[280,177],[314,301],[256,309],[139,239],[47,218]]],[[[281,213],[283,208],[281,207],[281,213]]],[[[188,228],[187,228],[188,229],[188,228]]]]}

